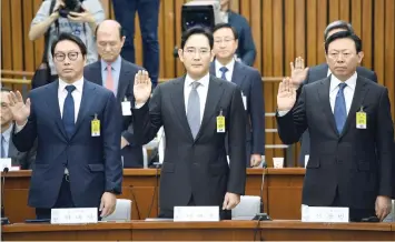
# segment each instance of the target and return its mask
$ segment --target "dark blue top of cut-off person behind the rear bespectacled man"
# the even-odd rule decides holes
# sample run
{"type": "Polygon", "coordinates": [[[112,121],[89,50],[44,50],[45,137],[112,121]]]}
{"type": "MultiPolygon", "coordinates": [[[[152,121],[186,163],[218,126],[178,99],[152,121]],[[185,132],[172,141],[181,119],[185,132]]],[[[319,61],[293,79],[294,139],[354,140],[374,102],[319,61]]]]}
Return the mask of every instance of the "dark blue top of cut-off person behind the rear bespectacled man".
{"type": "Polygon", "coordinates": [[[241,59],[243,63],[254,65],[256,48],[248,21],[241,14],[229,11],[228,23],[236,29],[238,34],[237,57],[241,59]]]}

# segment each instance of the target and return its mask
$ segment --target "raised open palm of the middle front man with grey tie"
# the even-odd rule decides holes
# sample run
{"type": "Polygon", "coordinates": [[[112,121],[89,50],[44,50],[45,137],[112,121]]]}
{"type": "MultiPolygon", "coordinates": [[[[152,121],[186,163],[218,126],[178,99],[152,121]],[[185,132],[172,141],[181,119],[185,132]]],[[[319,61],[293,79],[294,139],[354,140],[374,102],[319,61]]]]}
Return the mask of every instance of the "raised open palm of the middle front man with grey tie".
{"type": "Polygon", "coordinates": [[[138,71],[135,77],[134,94],[136,103],[146,103],[151,95],[152,83],[147,71],[138,71]]]}

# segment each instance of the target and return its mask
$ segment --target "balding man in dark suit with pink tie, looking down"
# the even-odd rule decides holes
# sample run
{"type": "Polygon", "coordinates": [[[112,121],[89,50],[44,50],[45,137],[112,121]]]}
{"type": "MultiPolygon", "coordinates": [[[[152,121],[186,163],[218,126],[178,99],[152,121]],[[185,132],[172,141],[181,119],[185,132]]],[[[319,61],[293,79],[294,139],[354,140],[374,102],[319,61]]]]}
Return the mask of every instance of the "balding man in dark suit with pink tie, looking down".
{"type": "Polygon", "coordinates": [[[124,168],[142,168],[142,147],[131,143],[134,127],[130,108],[121,109],[122,105],[130,107],[130,103],[135,103],[135,75],[142,68],[124,60],[119,56],[124,42],[125,37],[117,21],[105,20],[100,23],[96,31],[96,43],[101,60],[86,65],[83,77],[106,87],[117,97],[124,117],[124,131],[120,138],[124,168]]]}

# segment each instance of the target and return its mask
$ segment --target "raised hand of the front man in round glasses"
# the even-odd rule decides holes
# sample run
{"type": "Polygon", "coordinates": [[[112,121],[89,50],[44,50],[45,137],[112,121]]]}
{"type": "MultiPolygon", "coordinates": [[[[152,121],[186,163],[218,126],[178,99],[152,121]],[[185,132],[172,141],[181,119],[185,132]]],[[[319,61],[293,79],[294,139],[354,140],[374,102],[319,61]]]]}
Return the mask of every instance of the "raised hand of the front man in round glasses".
{"type": "Polygon", "coordinates": [[[8,94],[10,101],[10,110],[13,117],[13,120],[18,125],[24,125],[30,115],[30,99],[23,102],[23,98],[19,91],[10,92],[8,94]]]}

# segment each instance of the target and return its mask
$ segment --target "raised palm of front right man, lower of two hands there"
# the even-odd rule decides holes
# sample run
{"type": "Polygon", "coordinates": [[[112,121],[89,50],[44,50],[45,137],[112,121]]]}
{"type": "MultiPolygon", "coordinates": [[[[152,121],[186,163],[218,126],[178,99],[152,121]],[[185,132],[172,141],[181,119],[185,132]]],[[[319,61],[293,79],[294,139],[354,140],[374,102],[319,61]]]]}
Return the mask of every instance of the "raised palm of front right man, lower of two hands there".
{"type": "Polygon", "coordinates": [[[278,111],[289,111],[296,102],[296,89],[292,84],[290,78],[285,78],[279,83],[277,93],[278,111]]]}

